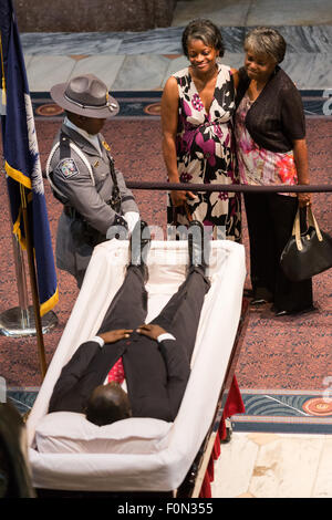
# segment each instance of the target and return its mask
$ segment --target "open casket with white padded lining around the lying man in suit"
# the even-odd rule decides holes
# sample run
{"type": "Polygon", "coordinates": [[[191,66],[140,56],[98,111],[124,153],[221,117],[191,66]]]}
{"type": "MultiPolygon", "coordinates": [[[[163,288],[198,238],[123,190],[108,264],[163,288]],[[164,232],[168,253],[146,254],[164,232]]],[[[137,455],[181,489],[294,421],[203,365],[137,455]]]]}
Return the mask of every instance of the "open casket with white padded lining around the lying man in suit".
{"type": "MultiPolygon", "coordinates": [[[[81,343],[96,334],[124,280],[128,257],[128,241],[113,239],[95,248],[29,415],[29,460],[37,489],[199,495],[239,350],[246,277],[242,246],[211,242],[207,271],[211,287],[200,315],[191,374],[174,423],[133,417],[97,427],[81,414],[48,414],[62,366],[81,343]]],[[[187,241],[152,241],[147,264],[146,322],[184,281],[187,241]]]]}

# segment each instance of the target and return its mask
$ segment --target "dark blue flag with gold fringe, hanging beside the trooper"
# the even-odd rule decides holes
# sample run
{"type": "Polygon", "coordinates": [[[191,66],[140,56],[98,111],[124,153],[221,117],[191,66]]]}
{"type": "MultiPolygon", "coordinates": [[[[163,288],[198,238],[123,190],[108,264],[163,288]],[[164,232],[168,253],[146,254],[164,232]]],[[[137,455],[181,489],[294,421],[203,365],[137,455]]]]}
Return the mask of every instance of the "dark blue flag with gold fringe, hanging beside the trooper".
{"type": "Polygon", "coordinates": [[[22,196],[25,196],[43,315],[58,302],[58,283],[32,103],[11,0],[0,0],[0,52],[2,146],[13,232],[24,248],[22,196]]]}

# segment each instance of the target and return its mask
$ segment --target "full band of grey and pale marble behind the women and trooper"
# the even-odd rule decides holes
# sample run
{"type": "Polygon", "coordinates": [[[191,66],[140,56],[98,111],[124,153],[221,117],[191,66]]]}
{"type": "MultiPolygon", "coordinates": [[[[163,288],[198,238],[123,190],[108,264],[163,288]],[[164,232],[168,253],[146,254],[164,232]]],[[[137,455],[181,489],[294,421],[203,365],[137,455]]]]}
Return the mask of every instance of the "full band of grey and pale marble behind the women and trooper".
{"type": "MultiPolygon", "coordinates": [[[[288,49],[282,67],[298,89],[332,89],[332,25],[278,28],[288,49]]],[[[69,77],[93,72],[113,91],[160,90],[168,76],[187,66],[181,54],[183,27],[139,32],[22,33],[31,91],[44,92],[69,77]]],[[[242,43],[249,28],[220,27],[222,62],[243,64],[242,43]]]]}

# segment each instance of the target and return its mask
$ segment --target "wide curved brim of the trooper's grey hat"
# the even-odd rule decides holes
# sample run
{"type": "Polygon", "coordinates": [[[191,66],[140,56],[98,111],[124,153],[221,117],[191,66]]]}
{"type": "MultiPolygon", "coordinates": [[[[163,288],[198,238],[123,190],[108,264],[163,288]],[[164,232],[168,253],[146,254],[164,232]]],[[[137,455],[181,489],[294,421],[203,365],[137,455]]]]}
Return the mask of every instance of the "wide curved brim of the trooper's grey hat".
{"type": "Polygon", "coordinates": [[[118,113],[120,105],[117,101],[111,95],[108,95],[110,106],[92,108],[91,106],[84,107],[76,105],[64,96],[66,85],[66,83],[59,83],[58,85],[52,86],[50,91],[52,100],[55,101],[55,103],[61,106],[61,108],[72,112],[73,114],[84,115],[85,117],[95,117],[97,119],[113,117],[118,113]]]}

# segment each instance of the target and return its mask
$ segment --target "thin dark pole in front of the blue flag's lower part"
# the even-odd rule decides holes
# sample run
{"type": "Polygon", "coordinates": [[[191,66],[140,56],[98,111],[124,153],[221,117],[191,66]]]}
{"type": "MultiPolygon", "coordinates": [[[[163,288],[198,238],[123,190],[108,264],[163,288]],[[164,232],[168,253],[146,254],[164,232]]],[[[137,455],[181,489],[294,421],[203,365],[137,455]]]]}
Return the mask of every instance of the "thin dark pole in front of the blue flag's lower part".
{"type": "Polygon", "coordinates": [[[34,258],[33,258],[33,248],[31,243],[30,227],[29,227],[29,219],[28,219],[27,193],[25,193],[24,186],[21,185],[20,188],[21,188],[22,216],[23,216],[25,241],[27,241],[27,254],[28,254],[28,266],[29,266],[29,273],[30,273],[30,284],[31,284],[32,302],[33,302],[33,309],[34,309],[38,354],[39,354],[41,375],[42,375],[42,378],[44,378],[48,366],[46,366],[44,340],[43,340],[40,306],[39,306],[39,294],[38,294],[37,274],[35,274],[34,258]]]}

